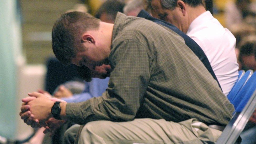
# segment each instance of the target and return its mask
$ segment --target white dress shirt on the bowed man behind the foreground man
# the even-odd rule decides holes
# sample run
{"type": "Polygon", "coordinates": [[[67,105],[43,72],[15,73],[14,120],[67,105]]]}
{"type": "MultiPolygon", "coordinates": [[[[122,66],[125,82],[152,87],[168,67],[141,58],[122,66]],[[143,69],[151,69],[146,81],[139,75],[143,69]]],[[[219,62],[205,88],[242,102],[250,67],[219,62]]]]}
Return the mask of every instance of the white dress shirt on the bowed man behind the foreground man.
{"type": "Polygon", "coordinates": [[[223,93],[228,95],[238,78],[236,38],[209,11],[194,19],[186,34],[205,52],[223,93]]]}

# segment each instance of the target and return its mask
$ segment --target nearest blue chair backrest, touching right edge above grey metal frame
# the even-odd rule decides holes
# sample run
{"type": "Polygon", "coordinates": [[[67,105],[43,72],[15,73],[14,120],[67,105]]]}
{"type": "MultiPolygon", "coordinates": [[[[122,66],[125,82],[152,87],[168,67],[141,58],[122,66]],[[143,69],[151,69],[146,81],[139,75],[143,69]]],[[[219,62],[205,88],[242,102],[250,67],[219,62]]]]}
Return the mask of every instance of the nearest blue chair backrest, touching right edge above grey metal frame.
{"type": "Polygon", "coordinates": [[[246,105],[250,96],[253,94],[254,90],[256,89],[255,78],[256,78],[256,72],[252,74],[252,76],[247,80],[247,82],[244,84],[244,86],[241,88],[241,90],[232,100],[231,103],[234,105],[234,108],[236,111],[237,111],[238,105],[241,104],[240,109],[246,105]]]}

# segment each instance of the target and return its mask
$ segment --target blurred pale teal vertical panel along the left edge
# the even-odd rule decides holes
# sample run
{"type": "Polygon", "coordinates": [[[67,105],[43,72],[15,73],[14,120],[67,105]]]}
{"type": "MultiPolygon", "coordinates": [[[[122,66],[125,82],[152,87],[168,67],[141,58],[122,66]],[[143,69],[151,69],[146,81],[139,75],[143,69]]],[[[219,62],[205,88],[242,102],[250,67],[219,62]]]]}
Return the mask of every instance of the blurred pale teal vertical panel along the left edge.
{"type": "Polygon", "coordinates": [[[15,0],[0,0],[0,135],[6,138],[15,137],[20,107],[16,105],[15,57],[21,51],[16,5],[15,0]]]}

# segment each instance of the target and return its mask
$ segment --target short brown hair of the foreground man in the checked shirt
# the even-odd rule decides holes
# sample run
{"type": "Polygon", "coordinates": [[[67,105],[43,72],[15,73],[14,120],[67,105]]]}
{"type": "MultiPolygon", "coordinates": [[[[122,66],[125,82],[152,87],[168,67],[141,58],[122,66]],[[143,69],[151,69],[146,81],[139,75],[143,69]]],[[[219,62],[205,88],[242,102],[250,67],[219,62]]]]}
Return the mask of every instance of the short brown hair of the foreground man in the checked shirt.
{"type": "Polygon", "coordinates": [[[81,46],[81,36],[87,30],[99,28],[99,19],[83,12],[63,14],[52,28],[52,50],[57,59],[64,65],[71,63],[81,46]]]}

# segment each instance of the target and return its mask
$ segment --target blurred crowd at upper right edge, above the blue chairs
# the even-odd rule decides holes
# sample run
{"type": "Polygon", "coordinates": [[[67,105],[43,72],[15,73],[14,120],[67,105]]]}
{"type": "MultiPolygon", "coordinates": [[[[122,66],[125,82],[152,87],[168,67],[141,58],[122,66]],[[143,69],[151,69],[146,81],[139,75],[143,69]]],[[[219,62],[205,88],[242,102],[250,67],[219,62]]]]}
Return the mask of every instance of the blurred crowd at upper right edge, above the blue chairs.
{"type": "Polygon", "coordinates": [[[236,37],[239,70],[256,70],[256,3],[250,0],[229,2],[225,9],[226,27],[236,37]]]}

